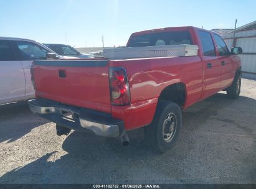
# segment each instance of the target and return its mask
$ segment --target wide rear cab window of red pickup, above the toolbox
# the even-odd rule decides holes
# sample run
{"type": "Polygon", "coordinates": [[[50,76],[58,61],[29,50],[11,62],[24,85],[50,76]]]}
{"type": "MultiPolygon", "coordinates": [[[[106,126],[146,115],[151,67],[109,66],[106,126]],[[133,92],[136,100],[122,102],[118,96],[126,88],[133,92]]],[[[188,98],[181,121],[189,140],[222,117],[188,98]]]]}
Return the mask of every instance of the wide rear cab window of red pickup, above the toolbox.
{"type": "Polygon", "coordinates": [[[146,47],[158,45],[191,45],[189,31],[159,32],[132,36],[127,47],[146,47]]]}

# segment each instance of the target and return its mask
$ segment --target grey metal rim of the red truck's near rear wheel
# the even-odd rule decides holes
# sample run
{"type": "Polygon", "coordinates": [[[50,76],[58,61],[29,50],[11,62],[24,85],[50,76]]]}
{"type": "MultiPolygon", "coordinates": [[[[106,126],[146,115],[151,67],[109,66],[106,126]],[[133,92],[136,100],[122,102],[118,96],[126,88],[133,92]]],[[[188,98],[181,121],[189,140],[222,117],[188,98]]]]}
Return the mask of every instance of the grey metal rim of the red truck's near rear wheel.
{"type": "Polygon", "coordinates": [[[177,119],[175,114],[169,113],[163,122],[163,139],[165,142],[170,142],[177,128],[177,119]]]}

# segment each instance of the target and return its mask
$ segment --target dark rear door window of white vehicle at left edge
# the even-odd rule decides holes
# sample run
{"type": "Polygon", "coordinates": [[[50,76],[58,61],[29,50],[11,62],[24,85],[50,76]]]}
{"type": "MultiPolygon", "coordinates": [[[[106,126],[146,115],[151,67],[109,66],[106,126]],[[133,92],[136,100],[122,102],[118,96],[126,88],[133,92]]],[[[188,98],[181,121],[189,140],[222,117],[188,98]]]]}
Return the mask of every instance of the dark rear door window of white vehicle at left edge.
{"type": "Polygon", "coordinates": [[[7,40],[0,40],[0,61],[15,60],[11,44],[7,40]]]}

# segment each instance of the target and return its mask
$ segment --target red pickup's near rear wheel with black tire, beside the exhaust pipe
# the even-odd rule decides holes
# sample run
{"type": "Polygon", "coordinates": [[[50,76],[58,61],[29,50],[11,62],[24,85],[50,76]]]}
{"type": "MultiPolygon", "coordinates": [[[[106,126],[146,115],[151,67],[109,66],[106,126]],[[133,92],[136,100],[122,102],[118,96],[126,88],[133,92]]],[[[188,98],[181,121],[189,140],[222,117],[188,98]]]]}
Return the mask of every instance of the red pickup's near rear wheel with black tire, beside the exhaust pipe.
{"type": "Polygon", "coordinates": [[[176,144],[182,127],[181,109],[178,104],[161,101],[154,119],[145,127],[145,141],[149,148],[163,153],[176,144]]]}

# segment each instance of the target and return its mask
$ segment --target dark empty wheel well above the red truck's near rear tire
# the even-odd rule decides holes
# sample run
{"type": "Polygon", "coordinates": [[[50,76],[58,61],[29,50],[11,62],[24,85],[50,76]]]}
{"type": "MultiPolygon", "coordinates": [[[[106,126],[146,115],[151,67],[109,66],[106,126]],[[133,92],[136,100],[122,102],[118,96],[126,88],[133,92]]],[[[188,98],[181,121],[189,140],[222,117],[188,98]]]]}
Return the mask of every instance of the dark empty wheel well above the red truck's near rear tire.
{"type": "Polygon", "coordinates": [[[161,91],[158,98],[158,103],[160,101],[173,101],[177,103],[181,108],[183,108],[186,100],[186,86],[184,83],[175,83],[169,85],[161,91]]]}

